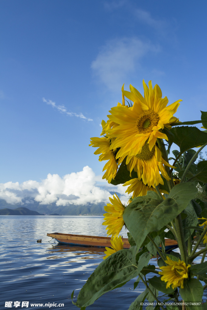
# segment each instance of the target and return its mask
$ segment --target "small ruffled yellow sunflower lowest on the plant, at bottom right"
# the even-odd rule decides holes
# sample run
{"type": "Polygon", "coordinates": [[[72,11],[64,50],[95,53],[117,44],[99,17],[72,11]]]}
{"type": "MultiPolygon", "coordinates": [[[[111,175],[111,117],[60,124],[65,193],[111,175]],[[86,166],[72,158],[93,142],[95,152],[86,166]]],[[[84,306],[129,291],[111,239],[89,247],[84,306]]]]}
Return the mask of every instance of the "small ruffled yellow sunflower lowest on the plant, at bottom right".
{"type": "Polygon", "coordinates": [[[188,268],[191,265],[187,265],[182,260],[174,261],[167,256],[167,260],[165,260],[169,266],[162,266],[160,269],[159,274],[162,275],[161,280],[167,282],[166,288],[170,287],[172,284],[172,288],[175,289],[176,287],[180,286],[183,289],[183,281],[184,279],[188,278],[188,268]]]}

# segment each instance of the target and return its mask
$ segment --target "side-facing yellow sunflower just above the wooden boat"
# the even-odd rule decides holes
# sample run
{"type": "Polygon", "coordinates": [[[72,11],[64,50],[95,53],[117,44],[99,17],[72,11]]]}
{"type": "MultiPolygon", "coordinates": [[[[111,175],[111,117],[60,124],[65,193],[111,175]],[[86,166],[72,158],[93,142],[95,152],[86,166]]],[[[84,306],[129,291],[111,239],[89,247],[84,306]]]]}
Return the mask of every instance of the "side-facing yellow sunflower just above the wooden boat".
{"type": "Polygon", "coordinates": [[[104,214],[105,222],[102,224],[107,225],[107,235],[111,235],[112,238],[117,236],[124,226],[123,212],[125,206],[121,203],[119,197],[117,195],[115,197],[115,195],[113,195],[113,198],[109,197],[111,203],[107,203],[104,207],[104,210],[108,213],[104,214]]]}

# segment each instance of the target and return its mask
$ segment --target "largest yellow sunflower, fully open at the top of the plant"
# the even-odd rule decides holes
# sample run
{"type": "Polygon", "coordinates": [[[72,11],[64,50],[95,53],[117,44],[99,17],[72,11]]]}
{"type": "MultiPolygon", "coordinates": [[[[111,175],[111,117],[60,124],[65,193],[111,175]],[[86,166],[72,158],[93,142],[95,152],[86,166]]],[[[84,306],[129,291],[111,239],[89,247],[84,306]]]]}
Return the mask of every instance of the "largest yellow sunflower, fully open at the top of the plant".
{"type": "Polygon", "coordinates": [[[136,156],[141,153],[146,141],[151,151],[157,138],[168,140],[160,130],[175,122],[173,114],[182,100],[167,106],[168,99],[162,98],[162,92],[157,84],[152,88],[150,81],[148,88],[143,81],[143,86],[144,97],[132,85],[130,85],[131,92],[122,90],[122,93],[133,101],[132,108],[114,107],[111,108],[111,115],[108,115],[111,121],[119,124],[109,130],[109,136],[117,138],[110,148],[120,147],[117,158],[136,156]]]}

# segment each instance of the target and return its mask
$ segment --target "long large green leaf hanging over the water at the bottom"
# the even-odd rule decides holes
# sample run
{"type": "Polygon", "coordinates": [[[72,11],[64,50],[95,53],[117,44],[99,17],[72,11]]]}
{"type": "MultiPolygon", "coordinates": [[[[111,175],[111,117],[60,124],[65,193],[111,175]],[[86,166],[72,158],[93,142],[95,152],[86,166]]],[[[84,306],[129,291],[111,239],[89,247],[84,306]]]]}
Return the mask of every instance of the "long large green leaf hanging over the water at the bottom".
{"type": "Polygon", "coordinates": [[[120,250],[103,260],[88,278],[79,292],[77,307],[87,307],[106,292],[120,287],[130,279],[137,277],[139,272],[150,260],[144,253],[136,263],[136,247],[120,250]]]}

